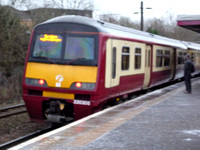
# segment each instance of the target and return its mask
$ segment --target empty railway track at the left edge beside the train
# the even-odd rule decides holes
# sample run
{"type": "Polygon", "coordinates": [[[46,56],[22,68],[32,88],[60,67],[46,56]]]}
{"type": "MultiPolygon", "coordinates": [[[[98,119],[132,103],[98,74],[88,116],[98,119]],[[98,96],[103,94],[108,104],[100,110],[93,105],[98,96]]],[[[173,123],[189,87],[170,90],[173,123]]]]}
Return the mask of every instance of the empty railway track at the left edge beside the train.
{"type": "Polygon", "coordinates": [[[5,107],[5,108],[0,109],[0,119],[7,118],[13,115],[26,113],[26,112],[27,110],[26,110],[25,104],[5,107]]]}

